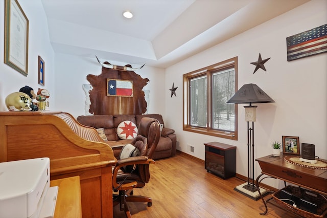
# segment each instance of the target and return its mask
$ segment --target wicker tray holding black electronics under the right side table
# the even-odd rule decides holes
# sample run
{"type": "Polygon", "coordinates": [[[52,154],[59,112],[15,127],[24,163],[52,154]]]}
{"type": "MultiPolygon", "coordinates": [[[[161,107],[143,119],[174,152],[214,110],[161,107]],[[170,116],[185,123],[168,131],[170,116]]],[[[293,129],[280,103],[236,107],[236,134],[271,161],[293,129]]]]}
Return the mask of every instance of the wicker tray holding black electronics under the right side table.
{"type": "Polygon", "coordinates": [[[309,191],[307,189],[303,189],[300,187],[295,187],[295,186],[286,186],[285,188],[278,190],[272,194],[272,197],[276,201],[277,204],[281,205],[282,207],[286,208],[287,210],[290,210],[302,217],[325,217],[327,213],[327,200],[322,197],[321,194],[314,192],[314,191],[309,191]],[[314,203],[317,205],[317,213],[311,213],[306,210],[302,210],[298,207],[294,207],[293,203],[289,204],[291,201],[282,201],[282,190],[287,191],[288,193],[291,193],[294,195],[294,198],[300,198],[304,199],[308,202],[314,203]],[[309,194],[308,194],[309,193],[309,194]]]}

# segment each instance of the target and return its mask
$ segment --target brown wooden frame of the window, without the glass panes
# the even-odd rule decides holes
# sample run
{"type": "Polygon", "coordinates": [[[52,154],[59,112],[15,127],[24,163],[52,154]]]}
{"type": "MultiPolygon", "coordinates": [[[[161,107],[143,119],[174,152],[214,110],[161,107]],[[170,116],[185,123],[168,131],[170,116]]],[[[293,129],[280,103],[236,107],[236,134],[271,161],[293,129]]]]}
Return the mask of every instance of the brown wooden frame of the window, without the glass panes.
{"type": "Polygon", "coordinates": [[[224,131],[214,129],[213,127],[213,81],[212,74],[217,73],[218,71],[223,71],[226,69],[234,68],[235,69],[235,93],[238,89],[238,57],[233,57],[211,66],[192,71],[190,73],[183,74],[183,130],[193,133],[199,133],[209,136],[216,136],[220,138],[238,140],[238,105],[235,104],[235,130],[224,131]],[[191,125],[191,79],[206,76],[207,79],[207,116],[206,116],[206,127],[199,127],[191,125]]]}

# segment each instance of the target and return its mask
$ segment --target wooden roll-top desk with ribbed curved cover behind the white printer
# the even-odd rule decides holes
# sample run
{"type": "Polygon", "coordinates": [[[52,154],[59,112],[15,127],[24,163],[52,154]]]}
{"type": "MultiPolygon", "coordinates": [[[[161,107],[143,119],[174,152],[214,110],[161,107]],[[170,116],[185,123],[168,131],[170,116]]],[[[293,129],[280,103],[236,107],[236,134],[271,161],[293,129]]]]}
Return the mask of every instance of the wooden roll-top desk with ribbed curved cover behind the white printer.
{"type": "Polygon", "coordinates": [[[0,162],[49,157],[51,180],[79,176],[83,217],[113,217],[116,159],[97,130],[62,112],[0,112],[0,162]]]}

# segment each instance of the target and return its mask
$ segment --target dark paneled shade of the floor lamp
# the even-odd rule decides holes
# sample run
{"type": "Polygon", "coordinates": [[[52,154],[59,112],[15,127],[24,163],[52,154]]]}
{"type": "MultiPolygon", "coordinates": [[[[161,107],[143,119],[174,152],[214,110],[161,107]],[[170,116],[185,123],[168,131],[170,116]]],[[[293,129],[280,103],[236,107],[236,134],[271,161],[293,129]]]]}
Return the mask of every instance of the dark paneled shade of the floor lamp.
{"type": "Polygon", "coordinates": [[[250,83],[245,84],[239,89],[227,103],[269,103],[272,100],[258,85],[250,83]]]}

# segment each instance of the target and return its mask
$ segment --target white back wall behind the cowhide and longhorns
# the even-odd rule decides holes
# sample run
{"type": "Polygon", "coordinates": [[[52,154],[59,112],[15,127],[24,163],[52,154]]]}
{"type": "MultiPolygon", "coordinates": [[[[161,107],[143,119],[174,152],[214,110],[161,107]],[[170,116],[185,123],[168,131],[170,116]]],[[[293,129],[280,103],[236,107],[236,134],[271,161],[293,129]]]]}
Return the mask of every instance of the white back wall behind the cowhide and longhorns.
{"type": "MultiPolygon", "coordinates": [[[[101,59],[101,57],[99,58],[101,59]]],[[[128,64],[103,59],[101,61],[108,61],[111,64],[120,66],[128,64]]],[[[94,58],[84,58],[60,53],[56,53],[55,65],[55,80],[58,81],[55,84],[57,110],[68,112],[74,117],[85,115],[85,92],[82,89],[82,85],[90,84],[86,79],[87,75],[100,75],[102,66],[98,63],[95,56],[94,58]]],[[[132,67],[138,66],[132,65],[132,67]]],[[[145,90],[150,90],[150,100],[147,102],[148,113],[161,114],[165,119],[164,99],[165,94],[167,94],[167,90],[165,90],[165,70],[144,66],[141,70],[136,70],[135,73],[142,78],[150,80],[144,86],[145,90]]]]}

